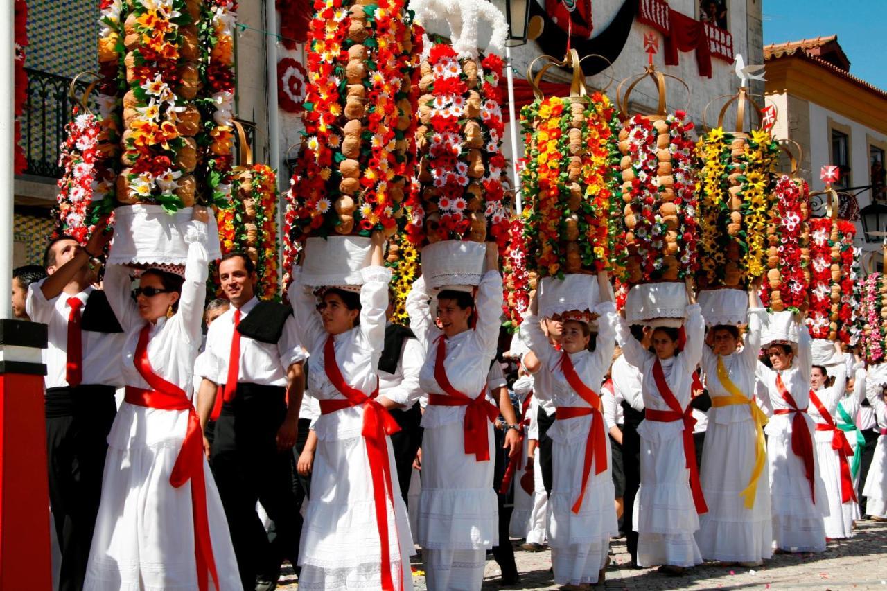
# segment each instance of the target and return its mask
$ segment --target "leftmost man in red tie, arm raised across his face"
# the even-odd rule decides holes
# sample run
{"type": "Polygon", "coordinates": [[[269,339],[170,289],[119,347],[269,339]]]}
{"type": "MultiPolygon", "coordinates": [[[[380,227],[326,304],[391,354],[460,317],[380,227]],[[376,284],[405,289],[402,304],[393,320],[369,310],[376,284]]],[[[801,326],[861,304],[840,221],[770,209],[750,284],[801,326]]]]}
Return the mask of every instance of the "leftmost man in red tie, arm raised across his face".
{"type": "Polygon", "coordinates": [[[81,589],[86,576],[114,390],[122,385],[124,335],[105,293],[90,286],[93,256],[72,238],[52,240],[43,256],[48,277],[31,284],[25,303],[27,316],[49,329],[46,453],[65,591],[81,589]]]}

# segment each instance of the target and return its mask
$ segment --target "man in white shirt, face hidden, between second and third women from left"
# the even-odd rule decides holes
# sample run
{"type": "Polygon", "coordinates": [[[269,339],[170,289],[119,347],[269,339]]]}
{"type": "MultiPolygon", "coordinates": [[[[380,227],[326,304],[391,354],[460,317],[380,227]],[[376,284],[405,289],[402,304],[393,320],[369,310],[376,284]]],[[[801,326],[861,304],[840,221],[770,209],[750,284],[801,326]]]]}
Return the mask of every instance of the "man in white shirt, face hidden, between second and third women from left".
{"type": "Polygon", "coordinates": [[[412,331],[391,323],[395,298],[389,292],[389,307],[385,311],[385,348],[379,358],[379,403],[400,426],[391,436],[397,480],[404,503],[409,506],[408,494],[412,477],[412,461],[422,444],[422,411],[416,404],[422,395],[419,372],[425,363],[425,351],[412,331]]]}

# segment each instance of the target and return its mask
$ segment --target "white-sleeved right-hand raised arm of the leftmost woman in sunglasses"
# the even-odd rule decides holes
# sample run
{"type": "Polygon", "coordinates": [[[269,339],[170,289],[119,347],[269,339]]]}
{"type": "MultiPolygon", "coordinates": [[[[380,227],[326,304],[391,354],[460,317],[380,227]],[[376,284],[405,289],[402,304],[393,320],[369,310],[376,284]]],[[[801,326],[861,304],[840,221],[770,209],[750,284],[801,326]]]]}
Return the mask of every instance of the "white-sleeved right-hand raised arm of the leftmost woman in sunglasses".
{"type": "Polygon", "coordinates": [[[194,208],[194,217],[184,234],[188,257],[184,264],[182,297],[177,315],[181,316],[184,333],[192,343],[203,335],[203,303],[207,299],[209,255],[207,254],[207,210],[194,208]],[[202,210],[202,214],[199,212],[202,210]]]}

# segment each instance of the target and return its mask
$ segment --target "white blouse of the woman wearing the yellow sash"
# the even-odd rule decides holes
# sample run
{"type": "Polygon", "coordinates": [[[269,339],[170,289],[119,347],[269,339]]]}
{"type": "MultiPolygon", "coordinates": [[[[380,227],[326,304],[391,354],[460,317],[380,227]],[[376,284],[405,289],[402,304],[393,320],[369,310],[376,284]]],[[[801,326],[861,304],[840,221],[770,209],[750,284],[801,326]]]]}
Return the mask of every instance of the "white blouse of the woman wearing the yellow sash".
{"type": "MultiPolygon", "coordinates": [[[[742,341],[742,351],[718,356],[709,346],[703,347],[703,372],[709,396],[713,398],[732,396],[718,378],[718,357],[723,361],[730,381],[742,392],[742,396],[755,398],[755,370],[757,353],[761,348],[761,326],[764,322],[764,308],[749,309],[749,330],[742,341]]],[[[757,403],[755,403],[757,404],[757,403]]],[[[750,421],[751,414],[745,405],[711,406],[708,413],[711,422],[726,424],[750,421]]]]}

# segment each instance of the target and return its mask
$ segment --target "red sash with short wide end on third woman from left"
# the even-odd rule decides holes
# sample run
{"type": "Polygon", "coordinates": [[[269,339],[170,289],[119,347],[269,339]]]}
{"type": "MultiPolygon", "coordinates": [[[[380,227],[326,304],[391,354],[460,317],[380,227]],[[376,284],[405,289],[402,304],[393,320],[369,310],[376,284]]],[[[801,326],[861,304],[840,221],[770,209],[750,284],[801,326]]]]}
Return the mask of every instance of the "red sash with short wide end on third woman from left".
{"type": "Polygon", "coordinates": [[[437,337],[435,379],[437,385],[446,394],[428,394],[428,404],[431,406],[465,406],[465,453],[474,453],[476,461],[490,461],[490,438],[487,433],[487,421],[496,421],[498,407],[487,402],[486,397],[483,395],[484,390],[486,390],[485,385],[481,393],[474,399],[453,388],[450,379],[446,375],[443,359],[446,359],[446,339],[443,335],[440,335],[437,337]]]}

